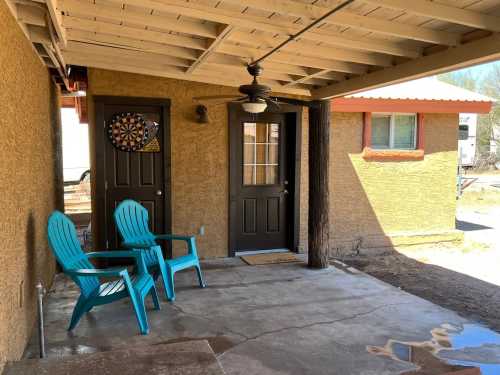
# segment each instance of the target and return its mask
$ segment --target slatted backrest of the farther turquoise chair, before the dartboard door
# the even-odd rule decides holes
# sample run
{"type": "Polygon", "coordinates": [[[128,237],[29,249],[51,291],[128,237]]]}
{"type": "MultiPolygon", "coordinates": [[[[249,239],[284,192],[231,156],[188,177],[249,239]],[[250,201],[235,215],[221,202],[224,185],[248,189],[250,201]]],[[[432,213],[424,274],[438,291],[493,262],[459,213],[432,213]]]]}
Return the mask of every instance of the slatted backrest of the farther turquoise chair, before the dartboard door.
{"type": "Polygon", "coordinates": [[[123,241],[141,245],[157,245],[154,234],[149,230],[148,210],[140,203],[126,199],[114,212],[115,223],[123,241]]]}

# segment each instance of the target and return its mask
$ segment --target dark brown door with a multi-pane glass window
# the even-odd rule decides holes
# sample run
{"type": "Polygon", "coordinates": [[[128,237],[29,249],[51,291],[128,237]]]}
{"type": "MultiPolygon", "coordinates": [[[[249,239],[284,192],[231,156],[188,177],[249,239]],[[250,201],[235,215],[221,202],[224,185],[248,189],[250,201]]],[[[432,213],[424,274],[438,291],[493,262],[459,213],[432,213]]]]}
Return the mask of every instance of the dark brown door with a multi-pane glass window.
{"type": "Polygon", "coordinates": [[[289,169],[282,113],[232,116],[231,225],[234,252],[284,249],[288,241],[289,169]]]}

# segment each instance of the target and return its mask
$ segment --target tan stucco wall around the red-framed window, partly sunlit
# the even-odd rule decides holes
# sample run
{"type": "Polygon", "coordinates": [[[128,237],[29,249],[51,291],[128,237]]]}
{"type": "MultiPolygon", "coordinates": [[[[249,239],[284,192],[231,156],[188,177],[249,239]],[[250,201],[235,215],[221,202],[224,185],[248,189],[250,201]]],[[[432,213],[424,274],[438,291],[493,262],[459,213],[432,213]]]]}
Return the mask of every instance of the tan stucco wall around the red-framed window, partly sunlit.
{"type": "Polygon", "coordinates": [[[361,113],[332,113],[331,246],[362,239],[391,245],[386,236],[455,228],[458,114],[425,118],[422,161],[367,161],[361,113]]]}

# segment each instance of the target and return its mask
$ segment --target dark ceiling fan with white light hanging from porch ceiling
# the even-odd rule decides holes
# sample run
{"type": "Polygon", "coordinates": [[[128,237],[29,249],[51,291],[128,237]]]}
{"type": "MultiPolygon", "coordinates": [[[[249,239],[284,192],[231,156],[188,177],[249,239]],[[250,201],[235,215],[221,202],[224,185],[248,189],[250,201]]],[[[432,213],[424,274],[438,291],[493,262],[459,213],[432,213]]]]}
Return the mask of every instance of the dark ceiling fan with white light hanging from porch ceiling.
{"type": "Polygon", "coordinates": [[[278,99],[270,97],[271,88],[266,85],[261,85],[257,81],[257,77],[262,74],[262,70],[263,69],[259,64],[247,66],[247,71],[253,77],[253,80],[251,84],[241,85],[238,88],[238,91],[243,94],[243,96],[209,95],[197,96],[193,99],[197,101],[226,99],[231,102],[242,102],[241,106],[243,107],[243,110],[250,113],[264,112],[268,105],[279,108],[278,99]]]}

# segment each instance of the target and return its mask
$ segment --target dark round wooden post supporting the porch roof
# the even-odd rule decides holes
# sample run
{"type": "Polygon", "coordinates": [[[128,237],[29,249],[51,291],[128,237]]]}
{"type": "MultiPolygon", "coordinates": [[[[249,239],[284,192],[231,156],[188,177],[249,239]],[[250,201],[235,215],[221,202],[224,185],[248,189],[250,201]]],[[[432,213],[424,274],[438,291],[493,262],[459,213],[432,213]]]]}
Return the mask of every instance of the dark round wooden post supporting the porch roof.
{"type": "Polygon", "coordinates": [[[313,102],[309,108],[309,267],[328,267],[330,239],[329,100],[313,102]]]}

